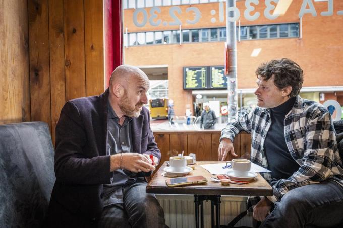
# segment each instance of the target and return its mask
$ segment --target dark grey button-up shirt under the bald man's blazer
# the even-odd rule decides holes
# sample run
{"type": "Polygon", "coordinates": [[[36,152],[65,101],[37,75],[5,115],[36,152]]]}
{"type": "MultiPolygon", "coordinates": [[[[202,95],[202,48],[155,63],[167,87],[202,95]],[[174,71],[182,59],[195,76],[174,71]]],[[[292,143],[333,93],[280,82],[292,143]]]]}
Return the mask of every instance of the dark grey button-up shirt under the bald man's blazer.
{"type": "MultiPolygon", "coordinates": [[[[131,120],[132,117],[126,117],[123,125],[120,125],[117,114],[108,104],[107,155],[132,152],[131,120]]],[[[136,181],[135,178],[129,177],[130,174],[130,171],[122,169],[113,171],[111,184],[103,185],[104,206],[123,203],[122,186],[136,181]]]]}

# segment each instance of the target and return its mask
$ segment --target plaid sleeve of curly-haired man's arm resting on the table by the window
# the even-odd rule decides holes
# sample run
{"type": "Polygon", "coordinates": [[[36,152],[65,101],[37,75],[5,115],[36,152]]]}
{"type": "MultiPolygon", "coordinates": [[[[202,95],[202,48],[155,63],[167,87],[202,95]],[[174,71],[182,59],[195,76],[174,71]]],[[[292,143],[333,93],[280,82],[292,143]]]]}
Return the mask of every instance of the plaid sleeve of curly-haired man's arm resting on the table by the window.
{"type": "Polygon", "coordinates": [[[231,141],[234,141],[235,136],[240,131],[246,131],[247,133],[251,133],[251,123],[252,123],[252,117],[254,115],[254,112],[251,111],[247,114],[242,115],[238,119],[231,120],[226,127],[221,131],[221,137],[222,138],[228,138],[231,141]]]}

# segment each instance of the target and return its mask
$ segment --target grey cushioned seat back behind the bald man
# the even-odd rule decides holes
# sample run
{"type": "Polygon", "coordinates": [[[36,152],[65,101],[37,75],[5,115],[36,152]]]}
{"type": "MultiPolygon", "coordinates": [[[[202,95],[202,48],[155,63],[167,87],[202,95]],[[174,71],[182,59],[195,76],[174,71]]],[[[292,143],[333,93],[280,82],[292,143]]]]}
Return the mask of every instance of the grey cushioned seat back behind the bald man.
{"type": "Polygon", "coordinates": [[[42,227],[52,187],[54,150],[43,122],[0,125],[0,227],[42,227]]]}

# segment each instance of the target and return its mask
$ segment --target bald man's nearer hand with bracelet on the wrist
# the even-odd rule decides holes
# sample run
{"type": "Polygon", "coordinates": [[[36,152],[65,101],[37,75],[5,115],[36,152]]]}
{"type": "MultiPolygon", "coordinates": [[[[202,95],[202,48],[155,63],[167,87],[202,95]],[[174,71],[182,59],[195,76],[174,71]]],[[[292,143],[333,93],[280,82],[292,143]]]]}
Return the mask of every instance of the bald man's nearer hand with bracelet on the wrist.
{"type": "Polygon", "coordinates": [[[150,160],[146,156],[138,153],[123,153],[123,155],[111,155],[111,171],[120,168],[129,170],[134,173],[138,173],[141,171],[149,172],[151,170],[155,170],[155,167],[151,165],[150,160]],[[122,167],[120,167],[121,159],[122,167]]]}

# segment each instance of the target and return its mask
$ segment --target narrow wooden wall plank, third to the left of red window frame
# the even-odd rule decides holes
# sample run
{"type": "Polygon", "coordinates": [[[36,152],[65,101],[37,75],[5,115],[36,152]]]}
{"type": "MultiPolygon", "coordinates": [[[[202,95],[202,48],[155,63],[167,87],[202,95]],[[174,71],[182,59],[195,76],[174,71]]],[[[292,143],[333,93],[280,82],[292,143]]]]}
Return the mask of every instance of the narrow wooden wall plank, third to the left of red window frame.
{"type": "Polygon", "coordinates": [[[55,141],[56,123],[66,103],[66,77],[64,61],[63,1],[49,0],[49,51],[51,85],[51,137],[55,141]]]}

